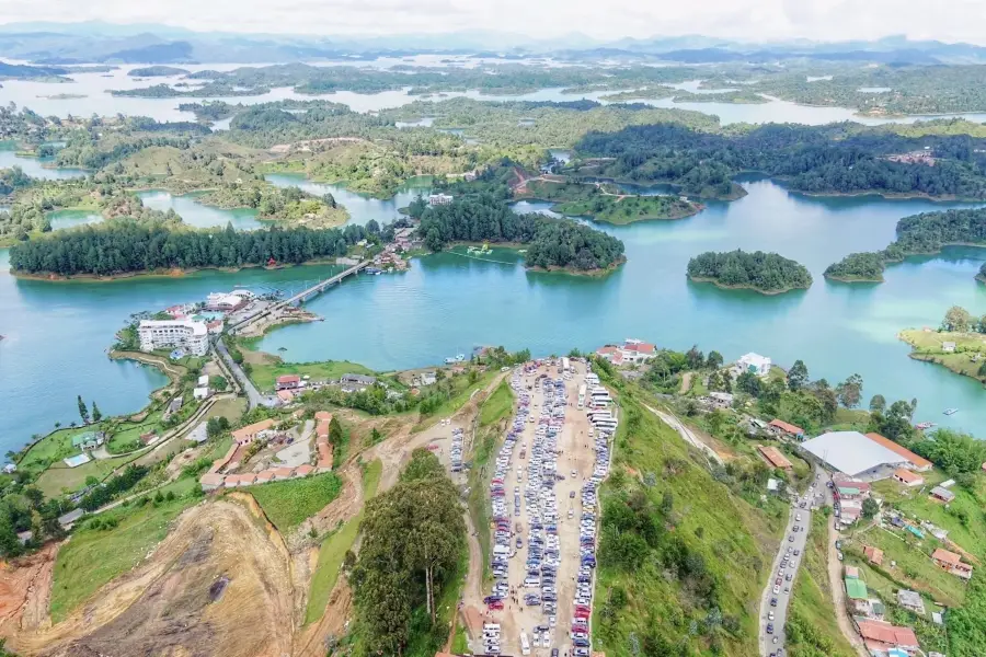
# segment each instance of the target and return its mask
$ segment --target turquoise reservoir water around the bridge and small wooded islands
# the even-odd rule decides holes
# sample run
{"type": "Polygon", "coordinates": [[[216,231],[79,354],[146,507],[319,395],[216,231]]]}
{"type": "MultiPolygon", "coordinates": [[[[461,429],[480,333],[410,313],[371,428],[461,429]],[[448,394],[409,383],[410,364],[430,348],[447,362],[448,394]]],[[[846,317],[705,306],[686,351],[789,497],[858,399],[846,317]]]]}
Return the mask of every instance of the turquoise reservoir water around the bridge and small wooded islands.
{"type": "MultiPolygon", "coordinates": [[[[297,184],[298,178],[272,181],[297,184]]],[[[849,252],[884,247],[901,217],[960,205],[806,197],[769,181],[743,184],[749,193],[744,198],[709,203],[688,219],[598,224],[623,240],[629,258],[606,278],[528,273],[508,250],[488,258],[498,262],[456,253],[426,256],[405,274],[347,279],[308,304],[326,321],[278,328],[260,348],[290,361],[349,359],[388,370],[438,364],[480,345],[549,355],[627,337],[681,350],[698,344],[727,360],[757,351],[787,367],[800,358],[813,379],[825,377],[832,384],[858,372],[863,403],[875,393],[888,402],[916,397],[915,422],[986,438],[983,387],[910,360],[909,347],[895,337],[902,328],[938,326],[953,304],[986,314],[986,286],[974,279],[986,250],[949,249],[940,257],[910,258],[892,265],[881,285],[849,286],[822,277],[826,266],[849,252]],[[777,251],[803,263],[815,283],[805,291],[766,297],[686,279],[689,257],[732,249],[777,251]],[[945,416],[947,407],[959,413],[945,416]]],[[[336,195],[359,223],[389,221],[417,191],[426,191],[409,186],[398,198],[378,200],[337,185],[310,185],[316,184],[302,188],[336,195]]],[[[517,211],[547,207],[515,206],[517,211]]],[[[234,211],[209,210],[216,212],[215,224],[236,221],[234,211]]],[[[163,377],[105,355],[131,313],[202,300],[234,285],[288,289],[334,270],[313,266],[54,284],[12,277],[0,252],[0,334],[5,336],[0,341],[0,449],[21,447],[32,434],[51,430],[56,420],[78,419],[77,394],[95,400],[107,415],[135,412],[146,403],[163,377]]]]}

